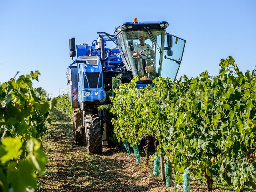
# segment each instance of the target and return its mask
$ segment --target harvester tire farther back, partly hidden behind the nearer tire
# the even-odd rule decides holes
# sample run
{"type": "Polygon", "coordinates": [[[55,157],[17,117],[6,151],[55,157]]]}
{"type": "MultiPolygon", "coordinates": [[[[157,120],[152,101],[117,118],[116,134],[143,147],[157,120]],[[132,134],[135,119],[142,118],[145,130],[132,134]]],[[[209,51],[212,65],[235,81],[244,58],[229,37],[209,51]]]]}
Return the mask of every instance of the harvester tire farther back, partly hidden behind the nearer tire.
{"type": "Polygon", "coordinates": [[[73,110],[73,134],[74,134],[74,144],[79,146],[86,145],[86,138],[82,135],[82,112],[79,109],[73,110]]]}

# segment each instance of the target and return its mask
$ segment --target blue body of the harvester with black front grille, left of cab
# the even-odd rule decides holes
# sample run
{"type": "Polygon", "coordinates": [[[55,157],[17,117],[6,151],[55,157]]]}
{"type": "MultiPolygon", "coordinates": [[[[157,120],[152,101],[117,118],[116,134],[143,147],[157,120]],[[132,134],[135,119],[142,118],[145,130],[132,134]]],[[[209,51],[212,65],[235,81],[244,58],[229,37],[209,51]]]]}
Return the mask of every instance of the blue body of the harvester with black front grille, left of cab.
{"type": "MultiPolygon", "coordinates": [[[[113,38],[115,41],[115,39],[113,38]]],[[[105,37],[104,43],[107,40],[105,37]]],[[[76,45],[77,60],[68,66],[68,74],[71,76],[76,75],[77,80],[72,82],[69,86],[69,99],[72,106],[80,108],[82,103],[86,105],[100,105],[106,99],[106,91],[104,89],[104,76],[105,71],[118,71],[123,68],[122,59],[119,54],[118,48],[104,48],[108,58],[102,65],[101,48],[97,45],[97,40],[92,42],[92,46],[88,44],[76,45]],[[80,63],[83,61],[82,63],[80,63]],[[76,68],[76,70],[70,70],[76,68]],[[71,88],[72,87],[72,88],[71,88]],[[74,104],[78,102],[78,104],[74,104]],[[73,103],[73,104],[72,104],[73,103]]]]}

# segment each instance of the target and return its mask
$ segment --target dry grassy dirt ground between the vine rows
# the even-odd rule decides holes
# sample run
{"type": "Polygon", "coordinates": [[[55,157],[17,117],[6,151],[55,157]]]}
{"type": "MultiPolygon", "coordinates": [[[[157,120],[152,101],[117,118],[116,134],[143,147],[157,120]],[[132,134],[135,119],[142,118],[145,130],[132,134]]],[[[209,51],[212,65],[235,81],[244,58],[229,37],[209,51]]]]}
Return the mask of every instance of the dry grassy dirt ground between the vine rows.
{"type": "MultiPolygon", "coordinates": [[[[48,125],[51,134],[43,139],[44,152],[48,158],[46,172],[38,177],[37,191],[62,192],[170,192],[160,176],[153,172],[153,158],[148,165],[141,150],[141,163],[131,148],[131,158],[116,148],[103,148],[102,154],[88,155],[86,147],[73,143],[72,122],[63,112],[54,110],[52,124],[48,125]]],[[[173,175],[174,177],[174,175],[173,175]]],[[[183,191],[182,184],[180,190],[183,191]]],[[[191,182],[192,192],[206,191],[205,184],[191,182]]],[[[215,187],[214,192],[223,191],[215,187]]],[[[232,190],[228,190],[232,191],[232,190]]]]}

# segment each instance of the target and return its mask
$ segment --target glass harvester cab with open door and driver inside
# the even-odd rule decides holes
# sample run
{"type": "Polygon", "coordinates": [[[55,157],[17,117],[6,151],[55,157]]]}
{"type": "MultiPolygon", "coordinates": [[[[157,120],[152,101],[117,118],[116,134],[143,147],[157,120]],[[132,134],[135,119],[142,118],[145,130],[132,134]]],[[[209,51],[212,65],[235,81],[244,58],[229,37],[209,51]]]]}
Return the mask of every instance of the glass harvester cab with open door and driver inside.
{"type": "Polygon", "coordinates": [[[174,80],[182,60],[185,40],[168,34],[168,22],[126,22],[115,31],[121,58],[139,84],[156,77],[174,80]]]}

